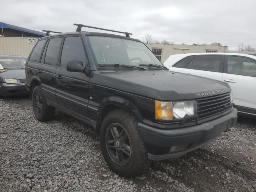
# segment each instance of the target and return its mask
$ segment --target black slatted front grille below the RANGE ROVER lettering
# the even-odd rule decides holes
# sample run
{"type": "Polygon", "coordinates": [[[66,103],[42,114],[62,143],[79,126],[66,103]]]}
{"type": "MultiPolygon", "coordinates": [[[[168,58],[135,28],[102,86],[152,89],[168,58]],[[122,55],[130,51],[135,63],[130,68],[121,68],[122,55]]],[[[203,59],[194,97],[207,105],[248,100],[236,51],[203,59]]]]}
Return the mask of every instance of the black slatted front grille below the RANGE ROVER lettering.
{"type": "Polygon", "coordinates": [[[196,99],[197,120],[212,117],[230,110],[230,93],[196,99]]]}

